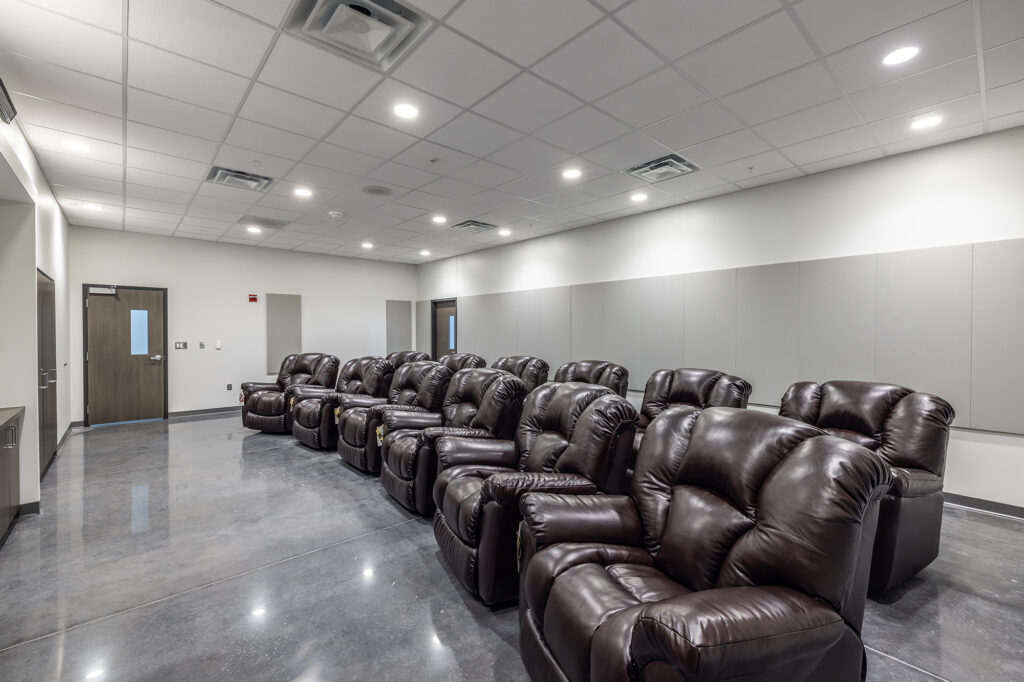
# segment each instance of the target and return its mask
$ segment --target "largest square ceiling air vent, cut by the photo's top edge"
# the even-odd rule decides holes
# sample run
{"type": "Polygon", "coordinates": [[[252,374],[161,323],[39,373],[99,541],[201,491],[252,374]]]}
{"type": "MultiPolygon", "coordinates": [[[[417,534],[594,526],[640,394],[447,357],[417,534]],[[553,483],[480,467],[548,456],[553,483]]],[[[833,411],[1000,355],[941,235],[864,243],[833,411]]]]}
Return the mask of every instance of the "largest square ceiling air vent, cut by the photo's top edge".
{"type": "Polygon", "coordinates": [[[423,14],[394,0],[300,0],[288,29],[333,52],[386,71],[430,24],[423,14]]]}

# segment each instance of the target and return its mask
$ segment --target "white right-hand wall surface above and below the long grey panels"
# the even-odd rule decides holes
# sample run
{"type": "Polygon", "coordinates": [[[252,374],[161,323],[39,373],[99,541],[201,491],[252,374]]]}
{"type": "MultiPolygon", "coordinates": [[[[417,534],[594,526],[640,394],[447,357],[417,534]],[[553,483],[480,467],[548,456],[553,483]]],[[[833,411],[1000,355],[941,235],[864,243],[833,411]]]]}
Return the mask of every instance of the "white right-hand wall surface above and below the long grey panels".
{"type": "MultiPolygon", "coordinates": [[[[1017,128],[478,251],[421,265],[419,298],[1020,239],[1022,157],[1017,128]]],[[[947,492],[1024,506],[1022,475],[1024,437],[953,431],[947,492]]]]}

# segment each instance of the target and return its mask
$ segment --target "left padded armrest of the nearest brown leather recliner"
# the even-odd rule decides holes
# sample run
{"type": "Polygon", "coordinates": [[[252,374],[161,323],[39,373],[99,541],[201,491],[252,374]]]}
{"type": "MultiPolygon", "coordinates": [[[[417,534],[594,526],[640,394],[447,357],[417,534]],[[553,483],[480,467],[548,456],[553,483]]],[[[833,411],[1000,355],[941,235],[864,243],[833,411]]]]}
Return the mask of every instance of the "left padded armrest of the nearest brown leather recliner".
{"type": "Polygon", "coordinates": [[[527,493],[519,512],[537,550],[556,543],[643,547],[640,512],[627,495],[527,493]]]}

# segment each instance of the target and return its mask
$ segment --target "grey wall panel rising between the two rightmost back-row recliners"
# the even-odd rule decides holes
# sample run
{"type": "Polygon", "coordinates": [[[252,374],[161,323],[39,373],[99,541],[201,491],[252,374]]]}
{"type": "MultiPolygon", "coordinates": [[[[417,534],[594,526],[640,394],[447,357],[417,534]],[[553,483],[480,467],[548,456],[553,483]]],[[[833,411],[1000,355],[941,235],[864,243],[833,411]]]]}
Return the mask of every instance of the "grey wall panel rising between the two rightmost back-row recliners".
{"type": "Polygon", "coordinates": [[[797,377],[800,265],[736,272],[736,371],[751,382],[751,402],[778,404],[797,377]]]}

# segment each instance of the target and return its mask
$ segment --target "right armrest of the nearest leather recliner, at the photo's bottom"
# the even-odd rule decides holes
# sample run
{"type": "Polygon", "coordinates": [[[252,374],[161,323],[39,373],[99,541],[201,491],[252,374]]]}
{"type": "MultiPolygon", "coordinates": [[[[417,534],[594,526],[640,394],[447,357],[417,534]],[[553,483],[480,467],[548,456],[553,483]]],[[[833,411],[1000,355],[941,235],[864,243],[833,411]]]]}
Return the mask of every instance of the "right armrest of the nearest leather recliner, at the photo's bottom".
{"type": "Polygon", "coordinates": [[[820,654],[849,628],[834,609],[784,587],[691,592],[645,606],[633,626],[631,667],[664,662],[686,679],[764,673],[820,654]]]}

